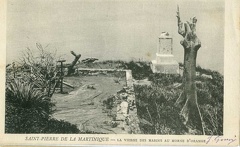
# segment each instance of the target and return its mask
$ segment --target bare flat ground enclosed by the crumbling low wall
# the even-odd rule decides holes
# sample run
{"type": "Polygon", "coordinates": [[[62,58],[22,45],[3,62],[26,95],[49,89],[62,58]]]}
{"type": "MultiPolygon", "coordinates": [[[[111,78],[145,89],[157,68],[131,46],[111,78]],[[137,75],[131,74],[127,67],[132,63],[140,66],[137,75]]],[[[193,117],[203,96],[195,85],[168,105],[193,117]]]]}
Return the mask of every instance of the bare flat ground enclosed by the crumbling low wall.
{"type": "Polygon", "coordinates": [[[54,94],[54,118],[76,124],[81,131],[111,134],[122,132],[121,127],[111,127],[116,107],[107,109],[103,101],[126,86],[125,74],[66,77],[64,81],[75,88],[69,91],[71,88],[65,87],[64,91],[68,91],[68,94],[54,94]]]}

